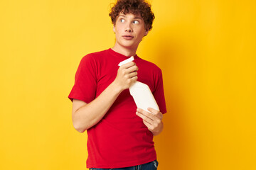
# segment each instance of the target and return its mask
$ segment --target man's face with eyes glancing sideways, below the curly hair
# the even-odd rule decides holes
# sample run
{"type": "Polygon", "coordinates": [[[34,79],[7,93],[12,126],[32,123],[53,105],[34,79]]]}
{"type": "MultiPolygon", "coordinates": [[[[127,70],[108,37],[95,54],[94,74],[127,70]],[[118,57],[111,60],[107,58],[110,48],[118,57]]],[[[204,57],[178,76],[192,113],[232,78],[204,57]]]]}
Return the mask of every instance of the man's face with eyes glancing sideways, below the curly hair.
{"type": "Polygon", "coordinates": [[[115,47],[137,50],[139,42],[147,35],[148,30],[145,29],[145,23],[140,15],[119,13],[114,25],[114,33],[115,47]]]}

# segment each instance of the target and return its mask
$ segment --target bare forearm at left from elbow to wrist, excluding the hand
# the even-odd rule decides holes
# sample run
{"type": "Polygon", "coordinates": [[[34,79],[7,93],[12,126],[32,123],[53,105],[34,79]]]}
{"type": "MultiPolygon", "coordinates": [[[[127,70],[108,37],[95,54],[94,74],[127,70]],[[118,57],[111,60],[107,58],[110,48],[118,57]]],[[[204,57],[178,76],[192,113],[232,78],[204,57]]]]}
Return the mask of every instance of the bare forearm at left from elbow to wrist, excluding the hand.
{"type": "Polygon", "coordinates": [[[75,129],[79,132],[84,132],[93,125],[96,125],[104,117],[121,92],[122,89],[113,82],[94,101],[73,111],[73,125],[75,129]]]}

